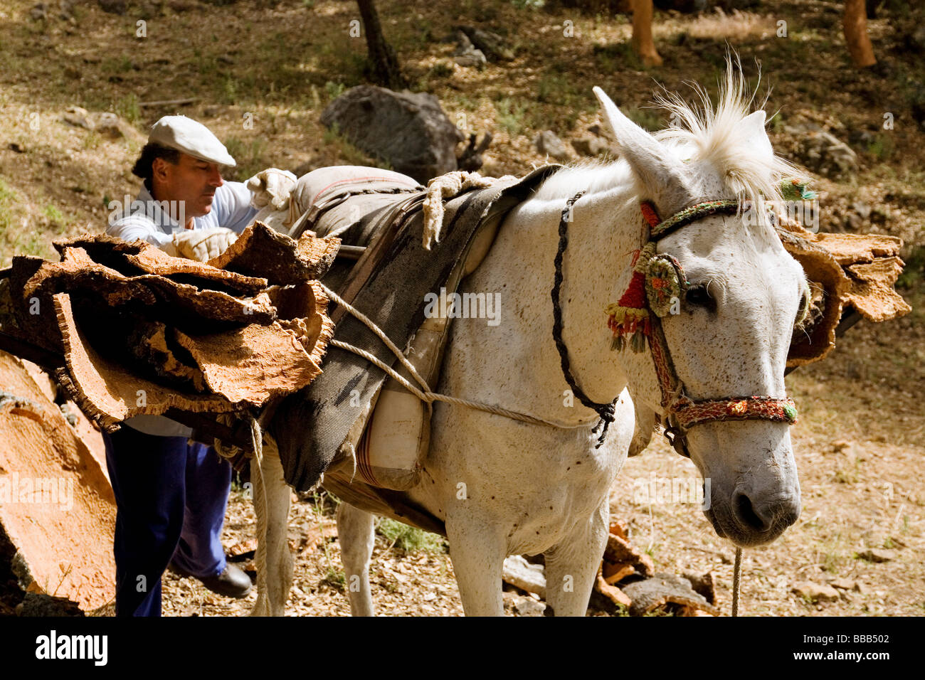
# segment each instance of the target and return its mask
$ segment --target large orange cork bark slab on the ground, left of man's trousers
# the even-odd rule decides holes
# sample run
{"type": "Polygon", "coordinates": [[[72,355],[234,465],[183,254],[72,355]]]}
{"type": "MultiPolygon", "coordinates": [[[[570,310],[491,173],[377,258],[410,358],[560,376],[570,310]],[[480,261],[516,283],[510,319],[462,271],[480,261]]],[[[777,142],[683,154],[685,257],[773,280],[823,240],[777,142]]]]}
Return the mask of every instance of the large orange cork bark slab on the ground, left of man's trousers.
{"type": "Polygon", "coordinates": [[[116,502],[105,471],[16,358],[0,352],[0,525],[19,580],[84,611],[115,595],[116,502]]]}

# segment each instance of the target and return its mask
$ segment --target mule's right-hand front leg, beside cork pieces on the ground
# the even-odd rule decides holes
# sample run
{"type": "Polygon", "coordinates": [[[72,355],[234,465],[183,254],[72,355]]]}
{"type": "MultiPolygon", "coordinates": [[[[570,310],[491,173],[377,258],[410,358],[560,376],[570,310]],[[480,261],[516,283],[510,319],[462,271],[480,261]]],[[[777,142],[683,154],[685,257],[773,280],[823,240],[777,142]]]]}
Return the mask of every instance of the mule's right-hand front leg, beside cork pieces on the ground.
{"type": "Polygon", "coordinates": [[[584,616],[607,547],[608,499],[567,538],[544,554],[546,601],[556,616],[584,616]]]}

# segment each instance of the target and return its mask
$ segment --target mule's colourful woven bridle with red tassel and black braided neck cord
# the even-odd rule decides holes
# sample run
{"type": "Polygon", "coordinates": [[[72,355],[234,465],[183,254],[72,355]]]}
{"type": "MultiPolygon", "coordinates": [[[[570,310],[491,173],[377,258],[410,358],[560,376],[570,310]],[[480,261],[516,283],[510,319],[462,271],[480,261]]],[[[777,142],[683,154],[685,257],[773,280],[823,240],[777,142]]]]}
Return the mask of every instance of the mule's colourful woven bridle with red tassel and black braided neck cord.
{"type": "MultiPolygon", "coordinates": [[[[556,253],[556,274],[552,289],[553,339],[559,350],[562,373],[573,394],[587,407],[594,409],[604,425],[598,439],[603,443],[607,427],[613,421],[614,403],[591,401],[578,386],[569,366],[568,351],[561,338],[561,263],[568,245],[568,222],[571,221],[573,204],[584,192],[578,192],[566,203],[559,223],[559,251],[556,253]]],[[[725,399],[691,399],[684,382],[678,377],[668,349],[661,317],[672,314],[672,308],[680,309],[687,290],[687,280],[681,264],[669,254],[657,254],[656,243],[678,229],[699,219],[716,214],[735,214],[739,209],[737,201],[728,199],[701,201],[661,220],[650,202],[640,205],[649,226],[646,245],[636,253],[633,278],[620,301],[611,304],[608,311],[608,327],[614,337],[613,348],[623,350],[627,346],[635,352],[645,349],[648,339],[649,352],[659,380],[661,391],[661,426],[666,439],[675,451],[690,458],[687,450],[686,432],[703,423],[727,420],[770,420],[779,423],[796,423],[796,403],[789,398],[777,399],[769,396],[728,397],[725,399]]],[[[677,312],[673,312],[677,313],[677,312]]],[[[597,427],[593,431],[597,431],[597,427]]]]}

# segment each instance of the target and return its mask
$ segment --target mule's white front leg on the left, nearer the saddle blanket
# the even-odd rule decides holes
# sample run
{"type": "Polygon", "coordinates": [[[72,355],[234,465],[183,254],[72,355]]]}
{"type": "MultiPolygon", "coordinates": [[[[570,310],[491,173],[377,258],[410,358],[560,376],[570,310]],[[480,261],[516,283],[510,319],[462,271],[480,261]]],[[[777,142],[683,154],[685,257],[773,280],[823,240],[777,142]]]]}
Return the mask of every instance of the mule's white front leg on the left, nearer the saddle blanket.
{"type": "Polygon", "coordinates": [[[507,543],[497,527],[448,516],[447,538],[465,615],[503,616],[501,575],[507,543]]]}

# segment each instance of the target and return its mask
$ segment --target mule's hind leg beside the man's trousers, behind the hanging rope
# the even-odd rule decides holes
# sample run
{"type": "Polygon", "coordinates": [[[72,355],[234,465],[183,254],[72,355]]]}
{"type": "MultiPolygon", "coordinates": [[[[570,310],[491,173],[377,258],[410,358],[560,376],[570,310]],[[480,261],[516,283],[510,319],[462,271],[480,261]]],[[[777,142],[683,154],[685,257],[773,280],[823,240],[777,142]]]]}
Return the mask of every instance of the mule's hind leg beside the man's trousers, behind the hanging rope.
{"type": "Polygon", "coordinates": [[[264,443],[263,464],[251,461],[253,505],[257,512],[257,601],[252,616],[282,616],[292,586],[292,553],[287,535],[291,491],[283,479],[276,443],[268,439],[264,443]]]}

